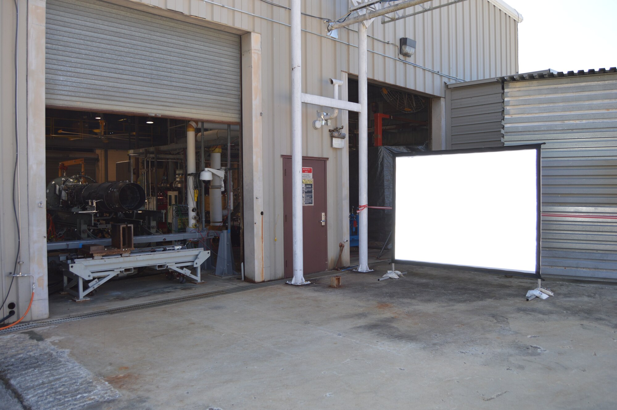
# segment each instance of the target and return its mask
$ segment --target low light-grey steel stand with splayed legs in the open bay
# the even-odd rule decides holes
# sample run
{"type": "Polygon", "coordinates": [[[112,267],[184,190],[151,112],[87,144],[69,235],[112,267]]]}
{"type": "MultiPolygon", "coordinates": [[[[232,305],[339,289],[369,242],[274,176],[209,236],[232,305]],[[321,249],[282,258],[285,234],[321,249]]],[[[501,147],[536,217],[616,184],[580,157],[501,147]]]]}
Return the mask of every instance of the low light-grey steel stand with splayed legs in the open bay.
{"type": "Polygon", "coordinates": [[[131,274],[135,268],[172,269],[188,276],[196,283],[201,281],[201,264],[210,257],[209,250],[180,249],[164,252],[147,252],[130,256],[103,256],[101,259],[75,258],[62,263],[64,291],[73,295],[75,301],[89,300],[86,297],[97,287],[120,274],[131,274]],[[196,268],[192,274],[185,266],[196,268]],[[70,279],[70,280],[69,280],[70,279]],[[91,281],[86,284],[84,281],[91,281]],[[77,292],[72,290],[77,285],[77,292]]]}

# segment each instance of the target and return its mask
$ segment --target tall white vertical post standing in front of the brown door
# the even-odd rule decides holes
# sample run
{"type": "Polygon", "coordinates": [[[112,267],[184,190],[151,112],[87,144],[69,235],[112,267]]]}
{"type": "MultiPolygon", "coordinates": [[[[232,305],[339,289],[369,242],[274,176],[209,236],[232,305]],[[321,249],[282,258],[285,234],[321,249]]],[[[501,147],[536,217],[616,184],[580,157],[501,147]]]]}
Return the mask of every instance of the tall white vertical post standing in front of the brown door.
{"type": "Polygon", "coordinates": [[[291,206],[294,278],[304,284],[302,241],[302,36],[300,0],[291,0],[291,206]]]}

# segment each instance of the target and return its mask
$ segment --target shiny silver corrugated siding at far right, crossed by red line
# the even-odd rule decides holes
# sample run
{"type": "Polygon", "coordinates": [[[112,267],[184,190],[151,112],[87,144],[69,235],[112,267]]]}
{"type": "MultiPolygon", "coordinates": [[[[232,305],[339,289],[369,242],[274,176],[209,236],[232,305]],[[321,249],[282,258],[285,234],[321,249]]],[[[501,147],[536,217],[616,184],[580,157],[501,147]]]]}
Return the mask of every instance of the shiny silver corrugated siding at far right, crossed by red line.
{"type": "MultiPolygon", "coordinates": [[[[506,82],[505,144],[542,147],[542,212],[617,215],[617,74],[506,82]]],[[[543,216],[542,272],[617,279],[617,219],[543,216]]]]}

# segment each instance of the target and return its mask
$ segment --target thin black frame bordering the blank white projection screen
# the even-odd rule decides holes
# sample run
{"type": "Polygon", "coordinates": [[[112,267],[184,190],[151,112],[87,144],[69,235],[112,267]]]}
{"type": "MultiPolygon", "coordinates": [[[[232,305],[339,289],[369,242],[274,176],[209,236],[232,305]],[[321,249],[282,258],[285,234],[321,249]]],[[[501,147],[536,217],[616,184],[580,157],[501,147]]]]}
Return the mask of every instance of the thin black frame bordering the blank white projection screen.
{"type": "Polygon", "coordinates": [[[458,269],[462,271],[476,271],[481,273],[492,273],[492,274],[500,274],[500,275],[511,275],[511,276],[523,276],[523,277],[533,277],[534,279],[542,279],[540,274],[540,269],[542,265],[541,261],[541,228],[542,228],[542,220],[541,220],[541,211],[542,211],[542,164],[541,164],[541,155],[540,148],[544,144],[522,144],[522,145],[514,145],[514,146],[504,146],[504,147],[484,147],[484,148],[471,148],[471,149],[451,149],[451,150],[437,150],[437,151],[413,151],[413,152],[397,152],[394,154],[394,178],[392,180],[392,263],[395,264],[409,264],[415,266],[428,266],[433,268],[444,268],[444,269],[458,269]],[[432,262],[423,262],[423,261],[411,261],[411,260],[399,260],[395,259],[396,255],[396,163],[398,157],[417,157],[420,155],[449,155],[449,154],[473,154],[478,152],[500,152],[500,151],[514,151],[514,150],[536,150],[536,272],[528,273],[521,271],[511,271],[507,269],[491,269],[491,268],[478,268],[476,266],[468,266],[468,265],[457,265],[457,264],[442,264],[442,263],[432,263],[432,262]]]}

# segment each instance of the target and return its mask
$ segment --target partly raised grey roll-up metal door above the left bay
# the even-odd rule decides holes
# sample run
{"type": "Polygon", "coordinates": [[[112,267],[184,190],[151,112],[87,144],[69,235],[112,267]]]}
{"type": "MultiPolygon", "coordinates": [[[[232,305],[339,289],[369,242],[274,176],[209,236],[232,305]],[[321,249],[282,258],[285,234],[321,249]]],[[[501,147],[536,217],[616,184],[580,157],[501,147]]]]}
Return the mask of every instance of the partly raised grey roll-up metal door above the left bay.
{"type": "Polygon", "coordinates": [[[99,0],[48,0],[46,104],[240,121],[240,38],[99,0]]]}

